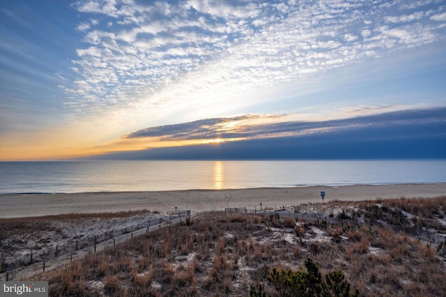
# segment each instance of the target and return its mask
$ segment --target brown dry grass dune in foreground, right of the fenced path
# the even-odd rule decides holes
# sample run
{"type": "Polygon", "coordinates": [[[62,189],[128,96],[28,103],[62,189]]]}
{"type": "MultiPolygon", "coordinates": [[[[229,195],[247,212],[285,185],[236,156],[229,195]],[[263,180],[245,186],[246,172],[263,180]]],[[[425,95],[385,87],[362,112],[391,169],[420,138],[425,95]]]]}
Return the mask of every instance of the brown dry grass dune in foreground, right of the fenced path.
{"type": "MultiPolygon", "coordinates": [[[[409,199],[399,200],[378,203],[395,212],[408,206],[409,199]]],[[[423,220],[445,209],[445,197],[415,203],[417,208],[404,209],[426,215],[423,220]]],[[[367,218],[367,207],[373,213],[362,227],[296,225],[276,215],[206,215],[89,254],[40,279],[49,280],[50,296],[246,296],[249,284],[258,282],[274,291],[266,282],[272,267],[301,270],[312,257],[323,273],[341,270],[362,296],[442,296],[446,266],[436,248],[392,226],[373,224],[389,212],[376,212],[382,217],[375,218],[372,201],[358,206],[356,216],[367,218]]],[[[397,226],[401,220],[393,222],[397,226]]]]}

